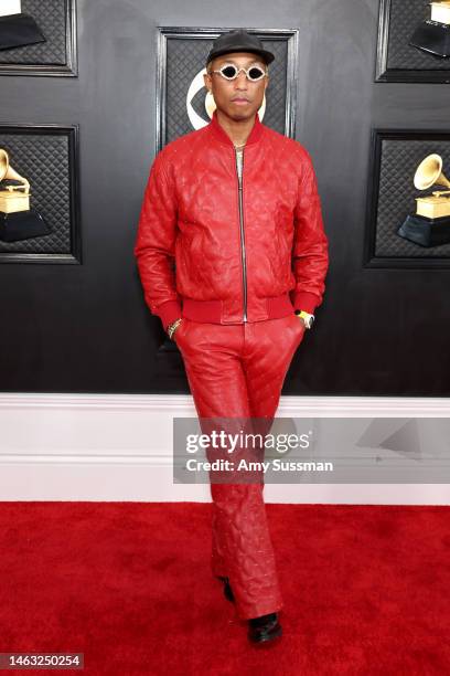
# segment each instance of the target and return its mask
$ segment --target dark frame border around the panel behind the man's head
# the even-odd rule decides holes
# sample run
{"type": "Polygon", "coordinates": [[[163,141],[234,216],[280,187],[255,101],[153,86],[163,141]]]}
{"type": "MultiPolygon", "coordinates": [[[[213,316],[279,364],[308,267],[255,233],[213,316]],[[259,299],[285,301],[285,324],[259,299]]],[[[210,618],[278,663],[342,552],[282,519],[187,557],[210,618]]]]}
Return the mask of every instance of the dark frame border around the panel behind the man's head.
{"type": "MultiPolygon", "coordinates": [[[[215,40],[222,33],[234,31],[234,28],[186,28],[186,27],[158,27],[158,57],[157,57],[157,135],[156,152],[162,150],[165,138],[167,113],[167,44],[168,40],[215,40]]],[[[287,42],[287,73],[286,73],[286,119],[285,135],[296,136],[297,110],[297,60],[299,45],[298,29],[246,29],[248,33],[256,33],[261,40],[280,40],[287,42]]]]}

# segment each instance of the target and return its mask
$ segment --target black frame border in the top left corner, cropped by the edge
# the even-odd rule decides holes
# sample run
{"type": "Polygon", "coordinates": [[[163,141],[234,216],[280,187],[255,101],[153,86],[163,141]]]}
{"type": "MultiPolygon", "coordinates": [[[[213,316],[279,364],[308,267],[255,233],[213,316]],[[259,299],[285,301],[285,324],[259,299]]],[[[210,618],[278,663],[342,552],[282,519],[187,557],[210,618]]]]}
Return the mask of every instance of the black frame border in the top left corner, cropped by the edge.
{"type": "Polygon", "coordinates": [[[78,51],[76,31],[76,3],[77,0],[65,0],[66,63],[64,65],[52,65],[47,63],[0,63],[0,75],[77,77],[78,51]]]}

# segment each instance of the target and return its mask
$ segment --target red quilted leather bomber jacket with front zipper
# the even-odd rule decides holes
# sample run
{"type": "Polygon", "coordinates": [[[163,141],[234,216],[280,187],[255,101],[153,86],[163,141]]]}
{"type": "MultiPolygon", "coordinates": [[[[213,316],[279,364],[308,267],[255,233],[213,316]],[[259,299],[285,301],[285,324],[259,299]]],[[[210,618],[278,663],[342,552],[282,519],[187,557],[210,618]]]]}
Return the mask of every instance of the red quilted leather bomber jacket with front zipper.
{"type": "Polygon", "coordinates": [[[236,151],[214,112],[157,155],[133,253],[164,328],[178,317],[242,324],[313,313],[329,256],[310,155],[256,114],[239,191],[236,151]]]}

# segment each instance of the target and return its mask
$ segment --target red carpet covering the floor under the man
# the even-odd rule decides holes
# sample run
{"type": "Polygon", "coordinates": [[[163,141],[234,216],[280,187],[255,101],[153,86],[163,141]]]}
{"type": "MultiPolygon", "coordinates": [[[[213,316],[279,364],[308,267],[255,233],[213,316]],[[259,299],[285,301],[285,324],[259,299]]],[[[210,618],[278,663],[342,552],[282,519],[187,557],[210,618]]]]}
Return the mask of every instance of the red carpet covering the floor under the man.
{"type": "Polygon", "coordinates": [[[286,605],[265,648],[211,577],[208,504],[2,503],[0,652],[84,653],[64,673],[89,676],[450,674],[449,508],[267,511],[286,605]]]}

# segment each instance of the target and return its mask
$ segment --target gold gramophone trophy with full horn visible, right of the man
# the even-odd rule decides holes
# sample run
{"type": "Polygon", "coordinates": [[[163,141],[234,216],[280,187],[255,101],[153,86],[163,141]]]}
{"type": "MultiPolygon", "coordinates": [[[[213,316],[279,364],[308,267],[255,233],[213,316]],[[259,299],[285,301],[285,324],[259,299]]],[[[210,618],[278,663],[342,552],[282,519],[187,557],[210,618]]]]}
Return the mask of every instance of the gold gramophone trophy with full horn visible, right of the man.
{"type": "Polygon", "coordinates": [[[450,181],[442,172],[440,155],[428,155],[414,177],[417,190],[444,186],[449,190],[435,190],[430,196],[416,198],[416,214],[408,215],[398,230],[400,237],[420,244],[437,246],[450,242],[450,181]]]}

